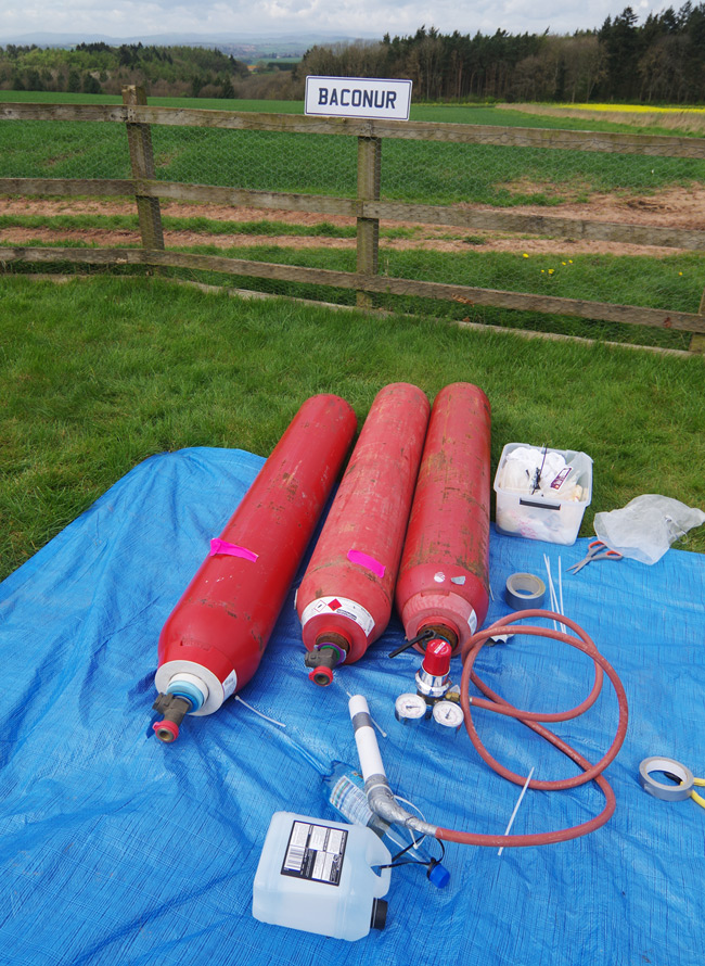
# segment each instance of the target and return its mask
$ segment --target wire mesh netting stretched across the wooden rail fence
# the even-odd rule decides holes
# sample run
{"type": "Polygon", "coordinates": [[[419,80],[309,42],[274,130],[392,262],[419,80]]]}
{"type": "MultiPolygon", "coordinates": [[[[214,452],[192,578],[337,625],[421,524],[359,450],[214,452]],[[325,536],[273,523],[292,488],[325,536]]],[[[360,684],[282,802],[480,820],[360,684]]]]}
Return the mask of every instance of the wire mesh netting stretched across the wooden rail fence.
{"type": "MultiPolygon", "coordinates": [[[[362,216],[379,225],[374,265],[382,280],[659,309],[666,314],[664,326],[652,325],[638,341],[682,346],[690,336],[669,331],[669,314],[697,315],[705,307],[705,148],[696,139],[644,137],[640,151],[637,136],[631,135],[626,150],[618,151],[614,145],[598,150],[600,144],[586,138],[586,150],[573,150],[518,145],[509,130],[502,143],[500,128],[495,143],[461,142],[454,130],[449,141],[443,141],[444,126],[434,130],[428,125],[428,138],[423,131],[382,137],[379,191],[376,196],[363,194],[366,204],[376,203],[376,208],[364,208],[356,201],[359,132],[336,136],[342,132],[339,125],[325,134],[318,132],[320,125],[310,132],[285,126],[249,129],[256,115],[249,116],[246,129],[223,129],[196,124],[196,115],[220,112],[191,113],[193,125],[181,119],[140,126],[151,137],[151,177],[157,187],[150,190],[161,198],[167,251],[355,272],[356,267],[360,270],[362,216]],[[196,190],[182,193],[178,186],[229,189],[245,196],[213,199],[196,190]],[[299,201],[293,203],[289,195],[299,201]],[[329,201],[318,203],[319,196],[329,201]],[[509,220],[498,220],[499,214],[509,220]],[[514,217],[520,215],[521,223],[514,217]],[[603,223],[607,229],[598,230],[595,226],[603,223]]],[[[134,177],[125,125],[55,119],[0,124],[0,179],[134,177]]],[[[7,180],[4,188],[0,181],[0,193],[8,187],[7,180]]],[[[78,190],[75,186],[70,193],[78,190]]],[[[91,194],[97,192],[91,188],[91,194]]],[[[139,246],[143,240],[140,223],[131,214],[133,201],[127,199],[93,205],[90,224],[87,208],[74,203],[79,221],[73,227],[72,209],[63,206],[60,225],[56,206],[44,199],[38,211],[43,211],[46,225],[39,231],[36,220],[23,225],[9,198],[0,211],[5,247],[16,246],[17,240],[41,242],[49,233],[53,243],[64,238],[74,245],[139,246]],[[123,228],[129,230],[116,239],[110,219],[119,216],[128,219],[123,228]],[[27,236],[33,230],[35,239],[27,236]],[[79,234],[72,236],[72,230],[79,234]]],[[[201,269],[197,274],[205,278],[201,269]]],[[[208,276],[208,280],[219,278],[208,276]]],[[[232,284],[232,277],[228,282],[232,284]]],[[[236,284],[348,304],[356,301],[355,285],[330,287],[291,271],[281,279],[239,276],[236,284]]],[[[483,304],[473,294],[450,293],[438,302],[412,290],[385,293],[380,288],[370,297],[384,308],[586,332],[585,321],[571,321],[567,313],[547,318],[544,312],[555,313],[555,307],[540,314],[513,313],[502,304],[483,304]]],[[[621,338],[621,327],[614,320],[590,326],[590,334],[621,338]]],[[[631,327],[629,341],[634,341],[631,327]]]]}

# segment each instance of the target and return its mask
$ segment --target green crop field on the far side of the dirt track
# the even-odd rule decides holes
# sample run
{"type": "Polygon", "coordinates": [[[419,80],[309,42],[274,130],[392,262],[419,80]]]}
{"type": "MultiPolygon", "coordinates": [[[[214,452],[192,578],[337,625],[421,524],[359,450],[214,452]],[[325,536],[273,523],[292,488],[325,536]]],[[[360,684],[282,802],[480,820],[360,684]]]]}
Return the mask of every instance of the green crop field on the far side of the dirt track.
{"type": "MultiPolygon", "coordinates": [[[[113,102],[82,94],[0,92],[0,100],[113,102]],[[12,96],[12,97],[10,97],[12,96]]],[[[154,99],[155,104],[238,111],[300,113],[291,101],[154,99]]],[[[493,107],[416,106],[412,117],[498,126],[579,128],[585,122],[531,118],[493,107]]],[[[627,125],[590,122],[595,130],[627,125]]],[[[268,191],[352,196],[357,141],[323,135],[220,131],[154,126],[156,175],[163,180],[268,191]]],[[[117,124],[9,122],[0,125],[0,177],[127,178],[125,131],[117,124]]],[[[553,205],[595,192],[652,193],[671,185],[705,181],[705,162],[579,151],[387,140],[382,196],[389,200],[499,206],[553,205]]]]}

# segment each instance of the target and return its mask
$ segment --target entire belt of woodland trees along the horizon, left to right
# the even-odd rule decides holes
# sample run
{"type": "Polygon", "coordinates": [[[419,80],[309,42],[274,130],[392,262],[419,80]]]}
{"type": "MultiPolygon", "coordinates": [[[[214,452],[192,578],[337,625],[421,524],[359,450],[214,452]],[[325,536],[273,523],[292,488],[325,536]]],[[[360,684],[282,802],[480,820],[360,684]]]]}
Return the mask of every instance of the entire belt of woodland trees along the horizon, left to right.
{"type": "Polygon", "coordinates": [[[0,88],[119,93],[140,84],[152,97],[300,100],[310,74],[413,81],[418,101],[705,102],[705,2],[649,14],[630,7],[599,29],[573,35],[441,34],[316,46],[295,69],[258,69],[198,47],[73,50],[0,48],[0,88]]]}

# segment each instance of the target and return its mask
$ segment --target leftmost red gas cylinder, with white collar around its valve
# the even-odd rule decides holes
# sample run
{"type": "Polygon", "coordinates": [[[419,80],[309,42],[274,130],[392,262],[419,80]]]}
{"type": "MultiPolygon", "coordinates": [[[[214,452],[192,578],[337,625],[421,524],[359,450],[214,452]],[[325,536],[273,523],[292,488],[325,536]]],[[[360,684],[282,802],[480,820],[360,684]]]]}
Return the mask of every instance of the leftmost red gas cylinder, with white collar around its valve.
{"type": "MultiPolygon", "coordinates": [[[[355,435],[334,395],[298,410],[159,636],[154,725],[174,741],[184,714],[211,714],[251,679],[355,435]]],[[[207,498],[207,495],[204,495],[207,498]]]]}

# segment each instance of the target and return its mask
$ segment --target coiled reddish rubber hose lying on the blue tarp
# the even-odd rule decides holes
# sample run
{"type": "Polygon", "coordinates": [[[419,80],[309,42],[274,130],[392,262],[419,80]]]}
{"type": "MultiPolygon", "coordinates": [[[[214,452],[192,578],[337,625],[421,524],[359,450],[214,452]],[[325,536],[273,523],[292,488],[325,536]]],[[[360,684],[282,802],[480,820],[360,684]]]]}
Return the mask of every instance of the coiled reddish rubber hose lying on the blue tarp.
{"type": "Polygon", "coordinates": [[[606,779],[602,776],[602,772],[612,761],[614,761],[617,752],[621,748],[625,736],[627,734],[629,711],[627,708],[627,695],[625,694],[625,689],[621,685],[621,682],[617,677],[614,668],[612,668],[608,661],[606,661],[605,658],[602,657],[602,654],[594,646],[590,637],[588,637],[588,635],[585,633],[585,631],[569,618],[563,617],[563,614],[556,614],[553,613],[553,611],[548,610],[524,610],[514,614],[509,614],[505,618],[501,618],[499,621],[496,621],[490,627],[487,627],[484,631],[478,631],[464,646],[461,658],[463,661],[463,672],[460,682],[460,703],[464,712],[465,728],[467,729],[470,740],[473,742],[473,746],[475,747],[480,758],[483,758],[483,760],[486,761],[491,768],[498,772],[498,774],[502,775],[504,778],[509,778],[510,781],[514,781],[516,785],[524,785],[526,783],[526,776],[522,777],[521,775],[511,772],[509,768],[505,768],[503,765],[497,762],[487,751],[475,729],[471,713],[471,707],[484,708],[487,711],[495,711],[498,714],[504,714],[510,717],[517,719],[517,721],[521,721],[522,724],[525,724],[528,728],[531,728],[531,730],[536,732],[537,735],[541,735],[541,737],[546,738],[547,741],[550,741],[551,745],[555,746],[555,748],[566,754],[582,768],[582,773],[576,775],[574,778],[564,778],[555,781],[539,781],[538,779],[533,778],[528,783],[528,788],[537,788],[543,791],[560,791],[566,788],[576,788],[578,785],[585,785],[587,781],[594,781],[605,797],[605,808],[599,815],[597,815],[594,818],[591,818],[589,822],[584,822],[580,825],[574,825],[569,828],[562,828],[556,831],[536,832],[533,835],[479,835],[469,831],[458,831],[450,828],[438,828],[436,830],[436,838],[449,842],[460,842],[465,846],[491,846],[495,848],[546,846],[551,842],[565,842],[568,839],[576,839],[580,836],[588,835],[588,832],[594,831],[597,828],[600,828],[602,825],[604,825],[605,822],[608,822],[614,814],[616,799],[614,796],[614,791],[607,784],[606,779]],[[533,637],[548,637],[553,640],[561,640],[564,644],[569,644],[572,647],[584,651],[584,653],[588,654],[588,657],[590,657],[594,662],[595,674],[592,689],[585,701],[582,701],[576,708],[573,708],[571,711],[557,712],[555,714],[542,714],[534,711],[522,711],[517,708],[514,708],[512,704],[509,703],[509,701],[505,701],[499,695],[495,694],[495,691],[492,691],[473,672],[473,664],[475,663],[475,659],[477,658],[477,654],[482,650],[487,639],[489,637],[495,637],[497,634],[507,633],[507,630],[511,627],[512,624],[526,618],[544,618],[551,621],[559,621],[561,624],[569,627],[576,636],[574,637],[571,634],[548,627],[534,627],[524,625],[515,628],[515,633],[522,635],[526,634],[533,637]],[[581,754],[579,754],[574,748],[563,741],[562,738],[559,738],[557,735],[553,734],[553,732],[550,732],[548,728],[543,727],[540,722],[568,721],[572,717],[577,717],[579,714],[582,714],[582,712],[587,711],[587,709],[594,704],[595,700],[598,699],[598,696],[602,688],[604,674],[606,674],[610,678],[610,682],[615,689],[615,694],[617,695],[619,719],[614,740],[610,746],[606,754],[604,754],[604,757],[601,758],[600,761],[593,765],[590,764],[590,762],[581,754]],[[479,688],[479,690],[488,700],[485,700],[484,698],[470,697],[469,688],[471,681],[477,688],[479,688]]]}

